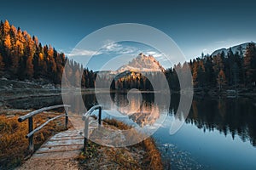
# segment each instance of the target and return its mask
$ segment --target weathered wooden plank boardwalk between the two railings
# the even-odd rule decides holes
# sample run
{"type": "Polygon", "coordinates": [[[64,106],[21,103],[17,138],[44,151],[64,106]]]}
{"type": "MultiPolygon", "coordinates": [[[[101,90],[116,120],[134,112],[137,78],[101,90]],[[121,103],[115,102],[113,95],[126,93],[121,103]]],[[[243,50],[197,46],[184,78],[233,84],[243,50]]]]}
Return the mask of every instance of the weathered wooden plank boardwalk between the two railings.
{"type": "Polygon", "coordinates": [[[57,133],[45,142],[21,167],[23,169],[78,169],[84,136],[74,128],[57,133]]]}

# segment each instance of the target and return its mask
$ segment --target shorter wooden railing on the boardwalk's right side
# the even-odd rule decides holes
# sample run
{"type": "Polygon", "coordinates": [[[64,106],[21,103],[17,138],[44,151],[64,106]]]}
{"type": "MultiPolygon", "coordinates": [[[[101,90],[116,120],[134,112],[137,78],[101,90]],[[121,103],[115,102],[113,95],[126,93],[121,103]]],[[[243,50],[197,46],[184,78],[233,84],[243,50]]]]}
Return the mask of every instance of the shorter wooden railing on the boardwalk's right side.
{"type": "Polygon", "coordinates": [[[86,146],[88,145],[88,138],[89,138],[89,118],[91,117],[90,115],[92,114],[93,111],[99,110],[99,116],[98,116],[98,123],[99,126],[102,125],[102,105],[95,105],[90,108],[89,111],[84,113],[82,119],[84,121],[84,151],[86,150],[86,146]]]}

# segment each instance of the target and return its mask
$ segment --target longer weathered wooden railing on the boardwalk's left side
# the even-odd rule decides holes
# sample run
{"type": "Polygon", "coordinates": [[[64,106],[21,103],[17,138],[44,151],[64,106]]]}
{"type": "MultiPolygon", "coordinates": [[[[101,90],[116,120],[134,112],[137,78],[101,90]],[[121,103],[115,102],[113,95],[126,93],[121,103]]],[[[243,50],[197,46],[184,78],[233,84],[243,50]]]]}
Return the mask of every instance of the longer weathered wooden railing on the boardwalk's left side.
{"type": "Polygon", "coordinates": [[[29,151],[30,153],[33,153],[34,151],[34,144],[33,144],[33,134],[38,132],[38,130],[40,130],[41,128],[43,128],[47,123],[54,121],[55,119],[61,117],[61,116],[66,116],[65,118],[65,128],[67,129],[67,123],[68,123],[68,108],[70,107],[70,105],[53,105],[53,106],[49,106],[49,107],[44,107],[42,109],[39,109],[37,111],[32,111],[28,114],[26,114],[25,116],[20,116],[18,121],[19,122],[23,122],[26,119],[28,119],[28,134],[26,134],[26,138],[28,139],[29,142],[29,151]],[[55,116],[51,119],[49,119],[47,122],[44,122],[42,125],[40,125],[39,127],[33,129],[33,116],[38,115],[39,113],[42,113],[43,111],[49,111],[49,110],[53,110],[56,108],[60,108],[60,107],[64,107],[65,108],[65,114],[62,114],[60,116],[55,116]]]}

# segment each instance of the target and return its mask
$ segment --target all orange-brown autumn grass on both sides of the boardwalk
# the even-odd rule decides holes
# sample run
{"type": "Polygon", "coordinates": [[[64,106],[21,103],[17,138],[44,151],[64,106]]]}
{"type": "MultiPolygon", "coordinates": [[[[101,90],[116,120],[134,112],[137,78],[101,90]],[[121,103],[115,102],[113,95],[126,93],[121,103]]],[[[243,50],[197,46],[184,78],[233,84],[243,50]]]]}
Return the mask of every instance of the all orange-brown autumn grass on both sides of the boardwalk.
{"type": "MultiPolygon", "coordinates": [[[[18,117],[29,111],[0,111],[0,169],[19,167],[29,157],[27,121],[18,122],[18,117]]],[[[34,117],[34,127],[38,127],[49,118],[58,115],[47,112],[34,117]]],[[[69,127],[71,127],[69,123],[69,127]]],[[[126,130],[131,128],[123,122],[104,120],[103,124],[126,130]]],[[[46,139],[64,130],[64,120],[57,119],[34,135],[37,150],[46,139]]],[[[135,134],[138,135],[138,134],[135,134]]],[[[139,144],[128,147],[113,148],[89,142],[87,150],[78,156],[80,169],[163,169],[160,151],[153,139],[145,139],[139,144]]]]}

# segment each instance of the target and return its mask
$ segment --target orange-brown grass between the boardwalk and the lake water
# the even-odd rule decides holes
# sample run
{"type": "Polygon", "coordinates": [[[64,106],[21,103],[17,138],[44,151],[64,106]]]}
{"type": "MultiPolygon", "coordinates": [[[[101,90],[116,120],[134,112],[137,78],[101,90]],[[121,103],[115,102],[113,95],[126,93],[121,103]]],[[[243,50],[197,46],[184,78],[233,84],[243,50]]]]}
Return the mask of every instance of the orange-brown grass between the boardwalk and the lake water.
{"type": "MultiPolygon", "coordinates": [[[[103,123],[121,130],[131,128],[113,119],[105,119],[103,123]]],[[[78,161],[81,169],[163,169],[160,151],[151,138],[122,148],[89,142],[87,150],[81,152],[78,161]]]]}

